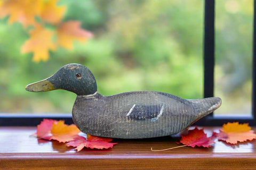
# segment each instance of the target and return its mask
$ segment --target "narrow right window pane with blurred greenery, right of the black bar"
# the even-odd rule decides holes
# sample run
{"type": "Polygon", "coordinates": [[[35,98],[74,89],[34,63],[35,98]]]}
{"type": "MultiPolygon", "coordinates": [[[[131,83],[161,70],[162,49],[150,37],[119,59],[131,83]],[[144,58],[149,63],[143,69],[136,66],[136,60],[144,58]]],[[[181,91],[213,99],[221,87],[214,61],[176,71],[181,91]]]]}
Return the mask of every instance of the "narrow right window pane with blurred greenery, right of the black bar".
{"type": "Polygon", "coordinates": [[[252,103],[253,1],[215,1],[214,115],[250,116],[252,103]]]}

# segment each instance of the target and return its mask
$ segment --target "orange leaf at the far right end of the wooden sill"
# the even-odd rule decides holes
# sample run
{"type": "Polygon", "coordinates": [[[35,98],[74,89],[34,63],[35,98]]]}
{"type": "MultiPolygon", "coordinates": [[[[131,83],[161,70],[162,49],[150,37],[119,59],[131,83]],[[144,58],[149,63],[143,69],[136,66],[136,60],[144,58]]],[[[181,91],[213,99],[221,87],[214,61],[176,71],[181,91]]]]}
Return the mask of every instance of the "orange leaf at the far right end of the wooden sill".
{"type": "Polygon", "coordinates": [[[256,134],[251,130],[248,123],[239,124],[238,122],[223,124],[222,130],[218,133],[218,139],[230,144],[245,142],[256,139],[256,134]]]}

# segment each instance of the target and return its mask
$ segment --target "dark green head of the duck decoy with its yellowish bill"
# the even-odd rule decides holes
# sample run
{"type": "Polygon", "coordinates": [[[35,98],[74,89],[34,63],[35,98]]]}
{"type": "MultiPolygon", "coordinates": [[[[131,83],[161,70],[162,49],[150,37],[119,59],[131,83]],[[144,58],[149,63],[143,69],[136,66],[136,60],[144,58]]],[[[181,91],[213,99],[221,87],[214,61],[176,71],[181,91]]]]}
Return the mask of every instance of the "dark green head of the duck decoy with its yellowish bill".
{"type": "Polygon", "coordinates": [[[63,89],[77,95],[91,95],[97,92],[92,72],[81,64],[67,64],[51,77],[28,84],[27,91],[41,92],[63,89]]]}

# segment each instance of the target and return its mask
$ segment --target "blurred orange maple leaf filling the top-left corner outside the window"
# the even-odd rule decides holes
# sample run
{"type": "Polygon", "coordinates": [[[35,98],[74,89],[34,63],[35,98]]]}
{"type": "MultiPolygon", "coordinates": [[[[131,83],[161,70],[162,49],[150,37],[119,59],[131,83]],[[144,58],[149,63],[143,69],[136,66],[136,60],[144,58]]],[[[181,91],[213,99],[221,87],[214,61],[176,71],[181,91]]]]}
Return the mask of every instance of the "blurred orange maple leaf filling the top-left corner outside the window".
{"type": "Polygon", "coordinates": [[[10,15],[9,23],[21,22],[24,27],[35,25],[35,16],[42,10],[43,0],[8,0],[0,6],[0,17],[10,15]]]}

